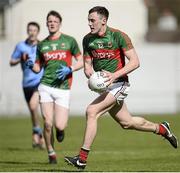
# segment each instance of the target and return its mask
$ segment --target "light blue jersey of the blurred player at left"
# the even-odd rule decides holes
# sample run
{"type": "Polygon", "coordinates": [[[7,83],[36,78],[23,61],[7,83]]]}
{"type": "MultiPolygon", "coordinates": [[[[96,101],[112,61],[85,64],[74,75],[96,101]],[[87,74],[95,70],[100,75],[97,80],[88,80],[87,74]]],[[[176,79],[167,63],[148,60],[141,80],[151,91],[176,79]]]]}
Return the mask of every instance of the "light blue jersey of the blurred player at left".
{"type": "MultiPolygon", "coordinates": [[[[37,45],[30,45],[28,44],[27,41],[22,41],[16,45],[11,58],[14,60],[21,59],[22,55],[26,53],[28,57],[33,62],[35,62],[36,50],[37,50],[37,45]]],[[[31,69],[29,69],[25,65],[24,61],[21,61],[21,68],[23,71],[22,85],[24,88],[33,87],[40,83],[41,77],[43,75],[43,69],[41,69],[39,73],[34,73],[31,69]]]]}

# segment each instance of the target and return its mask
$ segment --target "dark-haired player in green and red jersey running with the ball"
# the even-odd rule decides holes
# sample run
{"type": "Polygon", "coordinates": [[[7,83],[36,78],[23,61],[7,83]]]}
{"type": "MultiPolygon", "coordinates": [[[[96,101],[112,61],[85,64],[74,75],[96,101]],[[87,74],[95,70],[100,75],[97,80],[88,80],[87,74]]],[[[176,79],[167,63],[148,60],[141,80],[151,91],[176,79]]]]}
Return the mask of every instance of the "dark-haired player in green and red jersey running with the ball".
{"type": "Polygon", "coordinates": [[[88,15],[91,32],[83,39],[85,75],[89,78],[94,71],[103,71],[109,87],[87,107],[86,130],[79,154],[65,157],[66,162],[80,169],[86,167],[88,153],[96,136],[98,118],[106,112],[123,129],[153,132],[165,137],[174,148],[178,146],[169,123],[153,123],[129,113],[124,102],[130,86],[127,75],[139,67],[139,59],[130,38],[107,26],[108,16],[105,7],[92,8],[88,15]]]}

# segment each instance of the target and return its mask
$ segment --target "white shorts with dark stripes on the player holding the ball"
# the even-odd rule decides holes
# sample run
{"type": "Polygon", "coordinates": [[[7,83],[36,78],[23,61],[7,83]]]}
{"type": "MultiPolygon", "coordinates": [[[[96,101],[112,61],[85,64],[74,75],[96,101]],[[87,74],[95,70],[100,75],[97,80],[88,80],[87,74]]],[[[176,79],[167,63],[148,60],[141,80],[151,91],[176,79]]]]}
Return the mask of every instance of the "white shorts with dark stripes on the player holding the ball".
{"type": "Polygon", "coordinates": [[[108,87],[106,91],[110,92],[116,98],[117,103],[119,103],[127,97],[129,89],[130,84],[128,82],[117,82],[108,87]]]}

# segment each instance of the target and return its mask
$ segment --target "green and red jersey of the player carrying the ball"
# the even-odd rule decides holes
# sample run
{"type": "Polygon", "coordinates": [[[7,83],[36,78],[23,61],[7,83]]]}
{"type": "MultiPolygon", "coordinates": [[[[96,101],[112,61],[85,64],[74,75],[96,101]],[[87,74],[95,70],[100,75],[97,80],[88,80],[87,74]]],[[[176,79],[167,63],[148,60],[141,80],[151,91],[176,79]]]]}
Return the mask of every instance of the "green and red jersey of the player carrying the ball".
{"type": "MultiPolygon", "coordinates": [[[[125,66],[124,52],[133,48],[130,38],[120,30],[107,27],[103,36],[87,34],[83,39],[84,58],[91,58],[95,71],[114,73],[125,66]]],[[[119,81],[128,81],[123,76],[119,81]]]]}

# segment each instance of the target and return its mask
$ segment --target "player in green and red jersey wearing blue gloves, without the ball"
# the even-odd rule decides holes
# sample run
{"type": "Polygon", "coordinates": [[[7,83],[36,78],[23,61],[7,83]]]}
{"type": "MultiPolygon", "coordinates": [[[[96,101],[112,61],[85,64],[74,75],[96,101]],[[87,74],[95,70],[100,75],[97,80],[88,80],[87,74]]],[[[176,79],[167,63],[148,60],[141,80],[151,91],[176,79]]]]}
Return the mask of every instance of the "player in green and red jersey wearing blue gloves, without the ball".
{"type": "Polygon", "coordinates": [[[72,73],[83,67],[83,58],[76,40],[59,31],[62,17],[56,11],[47,15],[49,36],[38,44],[36,63],[27,60],[33,71],[44,67],[44,74],[38,87],[41,111],[44,118],[44,137],[49,163],[57,163],[53,147],[53,121],[56,138],[62,142],[68,121],[72,73]],[[72,65],[72,58],[76,63],[72,65]]]}

